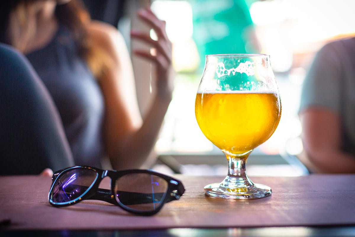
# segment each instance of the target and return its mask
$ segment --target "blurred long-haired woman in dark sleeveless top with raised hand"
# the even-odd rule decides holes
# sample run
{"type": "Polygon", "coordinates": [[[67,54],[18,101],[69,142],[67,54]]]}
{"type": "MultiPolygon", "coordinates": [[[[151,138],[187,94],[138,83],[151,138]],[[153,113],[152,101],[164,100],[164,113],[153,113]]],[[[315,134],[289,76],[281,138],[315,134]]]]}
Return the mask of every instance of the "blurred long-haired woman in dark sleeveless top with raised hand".
{"type": "Polygon", "coordinates": [[[147,157],[173,90],[165,22],[147,8],[138,17],[154,29],[158,41],[131,33],[155,48],[154,55],[135,51],[155,64],[157,71],[156,93],[142,119],[131,60],[115,28],[91,21],[75,0],[14,0],[1,2],[0,8],[0,41],[24,53],[44,82],[75,164],[100,167],[105,156],[114,169],[152,164],[147,157]]]}

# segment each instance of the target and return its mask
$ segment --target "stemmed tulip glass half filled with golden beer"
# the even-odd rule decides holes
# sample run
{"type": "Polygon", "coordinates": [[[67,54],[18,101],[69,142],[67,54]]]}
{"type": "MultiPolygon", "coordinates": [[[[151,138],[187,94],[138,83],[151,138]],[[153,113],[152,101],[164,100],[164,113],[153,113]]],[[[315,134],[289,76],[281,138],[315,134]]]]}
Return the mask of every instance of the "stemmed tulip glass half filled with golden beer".
{"type": "Polygon", "coordinates": [[[206,55],[195,115],[202,133],[222,150],[229,165],[221,183],[204,187],[206,195],[223,199],[270,195],[270,187],[253,183],[246,174],[248,156],[270,138],[281,117],[269,55],[206,55]]]}

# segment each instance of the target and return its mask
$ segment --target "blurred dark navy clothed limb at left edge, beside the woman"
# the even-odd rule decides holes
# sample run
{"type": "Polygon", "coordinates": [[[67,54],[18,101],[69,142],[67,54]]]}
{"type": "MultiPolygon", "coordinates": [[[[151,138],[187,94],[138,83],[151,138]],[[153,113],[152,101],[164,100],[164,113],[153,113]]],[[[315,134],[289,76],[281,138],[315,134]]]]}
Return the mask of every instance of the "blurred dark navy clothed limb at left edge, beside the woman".
{"type": "MultiPolygon", "coordinates": [[[[27,58],[0,43],[0,175],[74,165],[53,98],[27,58]]],[[[45,170],[44,170],[45,169],[45,170]]]]}

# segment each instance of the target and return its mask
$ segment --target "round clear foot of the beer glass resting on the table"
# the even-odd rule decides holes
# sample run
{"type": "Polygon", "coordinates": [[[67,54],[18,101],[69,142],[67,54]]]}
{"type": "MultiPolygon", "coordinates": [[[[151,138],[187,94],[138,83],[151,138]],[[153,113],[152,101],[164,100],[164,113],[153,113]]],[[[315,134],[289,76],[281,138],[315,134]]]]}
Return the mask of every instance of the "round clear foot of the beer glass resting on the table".
{"type": "Polygon", "coordinates": [[[207,196],[222,199],[256,199],[264,198],[271,194],[271,188],[264,184],[253,184],[249,187],[226,188],[220,183],[209,184],[204,187],[207,196]]]}

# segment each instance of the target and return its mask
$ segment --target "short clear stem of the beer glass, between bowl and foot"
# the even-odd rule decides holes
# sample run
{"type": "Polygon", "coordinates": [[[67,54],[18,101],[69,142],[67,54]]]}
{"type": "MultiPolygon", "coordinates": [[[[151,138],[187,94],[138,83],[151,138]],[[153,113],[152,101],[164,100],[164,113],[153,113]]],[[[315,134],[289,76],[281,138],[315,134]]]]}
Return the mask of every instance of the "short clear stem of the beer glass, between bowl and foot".
{"type": "Polygon", "coordinates": [[[246,160],[250,152],[240,156],[225,154],[228,160],[228,175],[223,182],[220,183],[220,186],[231,189],[240,189],[254,185],[245,171],[246,160]]]}

